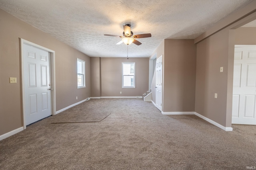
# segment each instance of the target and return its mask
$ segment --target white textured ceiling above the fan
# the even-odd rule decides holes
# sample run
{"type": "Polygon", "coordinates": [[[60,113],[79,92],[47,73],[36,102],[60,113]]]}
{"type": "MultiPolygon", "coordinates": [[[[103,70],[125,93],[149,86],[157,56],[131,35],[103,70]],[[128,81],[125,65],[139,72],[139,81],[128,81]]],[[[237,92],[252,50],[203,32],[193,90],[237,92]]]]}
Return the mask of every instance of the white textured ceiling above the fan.
{"type": "Polygon", "coordinates": [[[126,57],[116,45],[131,24],[142,45],[128,57],[150,57],[164,39],[194,39],[252,0],[0,0],[0,8],[90,57],[126,57]]]}

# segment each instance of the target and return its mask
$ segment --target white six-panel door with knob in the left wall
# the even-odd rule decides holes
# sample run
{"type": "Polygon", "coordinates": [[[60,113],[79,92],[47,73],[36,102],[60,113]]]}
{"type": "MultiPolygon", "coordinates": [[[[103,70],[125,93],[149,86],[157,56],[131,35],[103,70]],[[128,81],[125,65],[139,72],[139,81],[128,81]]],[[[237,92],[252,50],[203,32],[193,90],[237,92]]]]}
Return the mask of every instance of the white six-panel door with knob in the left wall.
{"type": "Polygon", "coordinates": [[[23,45],[26,125],[52,115],[49,52],[23,45]]]}

